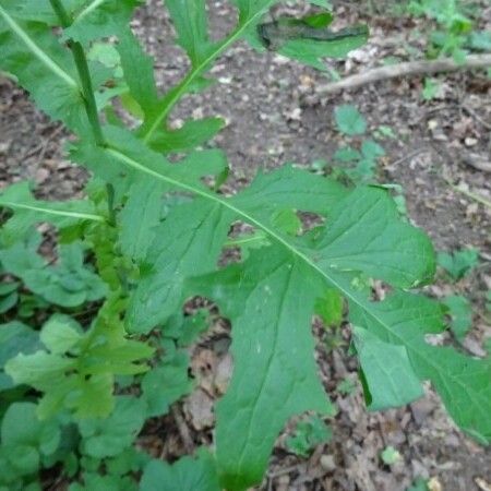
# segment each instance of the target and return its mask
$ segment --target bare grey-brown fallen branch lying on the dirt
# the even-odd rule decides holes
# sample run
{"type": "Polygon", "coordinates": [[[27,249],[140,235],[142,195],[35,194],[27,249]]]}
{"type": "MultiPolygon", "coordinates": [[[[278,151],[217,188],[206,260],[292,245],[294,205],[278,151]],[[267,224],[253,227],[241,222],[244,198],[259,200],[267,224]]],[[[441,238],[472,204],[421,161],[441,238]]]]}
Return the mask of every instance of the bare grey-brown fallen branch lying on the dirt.
{"type": "Polygon", "coordinates": [[[347,76],[338,82],[321,85],[316,88],[319,94],[332,94],[343,89],[351,89],[362,85],[372,84],[383,80],[402,76],[428,75],[430,73],[457,72],[491,67],[491,55],[469,55],[462,63],[453,58],[439,60],[408,61],[405,63],[380,67],[364,73],[347,76]]]}

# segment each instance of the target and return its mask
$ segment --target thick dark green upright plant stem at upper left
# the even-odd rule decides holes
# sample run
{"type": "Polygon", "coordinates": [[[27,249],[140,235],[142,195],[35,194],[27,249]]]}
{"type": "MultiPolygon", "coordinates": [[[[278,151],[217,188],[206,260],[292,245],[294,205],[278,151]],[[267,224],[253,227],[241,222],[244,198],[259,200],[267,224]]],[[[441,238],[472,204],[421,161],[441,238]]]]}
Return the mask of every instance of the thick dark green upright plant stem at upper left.
{"type": "MultiPolygon", "coordinates": [[[[63,28],[70,27],[72,20],[64,10],[61,0],[49,0],[51,8],[60,20],[63,28]]],[[[75,61],[76,71],[79,72],[80,82],[82,84],[82,96],[84,100],[85,111],[87,113],[88,122],[92,128],[95,143],[99,146],[105,146],[103,130],[97,113],[97,105],[94,97],[94,88],[92,86],[91,72],[88,71],[87,59],[84,49],[80,43],[69,41],[69,47],[72,50],[73,59],[75,61]]]]}

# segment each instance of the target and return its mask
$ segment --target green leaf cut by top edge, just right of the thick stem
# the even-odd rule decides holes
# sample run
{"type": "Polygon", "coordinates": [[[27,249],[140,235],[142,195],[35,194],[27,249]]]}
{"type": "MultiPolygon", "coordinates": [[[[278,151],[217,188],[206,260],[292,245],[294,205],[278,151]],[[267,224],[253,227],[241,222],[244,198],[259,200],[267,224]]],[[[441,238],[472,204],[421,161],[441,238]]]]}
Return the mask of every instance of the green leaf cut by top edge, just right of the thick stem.
{"type": "Polygon", "coordinates": [[[119,35],[128,28],[133,10],[140,0],[91,0],[84,2],[70,27],[63,32],[64,39],[88,45],[94,39],[119,35]]]}

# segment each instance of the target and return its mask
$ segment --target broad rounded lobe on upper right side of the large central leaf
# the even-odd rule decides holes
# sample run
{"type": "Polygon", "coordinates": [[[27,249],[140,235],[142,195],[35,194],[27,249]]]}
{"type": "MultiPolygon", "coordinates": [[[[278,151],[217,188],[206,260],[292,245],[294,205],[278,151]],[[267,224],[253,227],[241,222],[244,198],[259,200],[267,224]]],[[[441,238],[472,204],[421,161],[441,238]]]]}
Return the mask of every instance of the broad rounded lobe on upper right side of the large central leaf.
{"type": "Polygon", "coordinates": [[[328,227],[311,244],[315,252],[309,253],[322,270],[362,271],[400,287],[432,278],[431,242],[421,230],[399,220],[385,190],[358,188],[332,206],[328,218],[328,227]]]}

